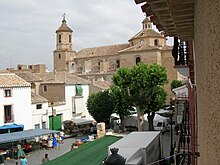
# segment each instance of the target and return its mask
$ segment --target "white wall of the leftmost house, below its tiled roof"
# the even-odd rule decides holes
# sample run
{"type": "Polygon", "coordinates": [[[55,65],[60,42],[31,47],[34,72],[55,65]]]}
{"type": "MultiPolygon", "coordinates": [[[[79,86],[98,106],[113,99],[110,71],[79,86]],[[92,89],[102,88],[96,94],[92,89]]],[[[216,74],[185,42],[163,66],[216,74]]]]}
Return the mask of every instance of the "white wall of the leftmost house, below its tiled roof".
{"type": "Polygon", "coordinates": [[[12,97],[4,97],[4,89],[0,89],[0,125],[4,125],[4,105],[12,105],[15,124],[23,124],[24,130],[32,129],[31,88],[16,87],[11,89],[12,97]]]}

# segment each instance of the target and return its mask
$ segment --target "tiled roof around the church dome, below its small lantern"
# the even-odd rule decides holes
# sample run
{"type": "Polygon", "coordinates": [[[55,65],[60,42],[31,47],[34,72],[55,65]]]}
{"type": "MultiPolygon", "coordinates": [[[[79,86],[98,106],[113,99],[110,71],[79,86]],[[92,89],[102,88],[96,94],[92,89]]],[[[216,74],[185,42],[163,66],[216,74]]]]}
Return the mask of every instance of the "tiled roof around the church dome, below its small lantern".
{"type": "Polygon", "coordinates": [[[146,37],[159,37],[164,38],[164,36],[153,29],[142,29],[136,35],[134,35],[129,41],[136,39],[136,38],[146,38],[146,37]]]}

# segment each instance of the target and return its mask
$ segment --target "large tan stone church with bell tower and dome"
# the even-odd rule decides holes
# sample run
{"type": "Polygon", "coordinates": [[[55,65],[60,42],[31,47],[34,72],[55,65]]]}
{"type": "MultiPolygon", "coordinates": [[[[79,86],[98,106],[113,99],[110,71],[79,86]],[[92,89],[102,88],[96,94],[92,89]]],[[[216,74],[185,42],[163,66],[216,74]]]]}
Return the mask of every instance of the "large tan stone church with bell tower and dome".
{"type": "MultiPolygon", "coordinates": [[[[181,75],[173,67],[172,47],[166,44],[166,37],[153,29],[149,18],[142,21],[142,29],[128,40],[128,43],[85,48],[78,52],[72,48],[72,29],[65,17],[56,30],[56,50],[53,52],[54,71],[68,72],[93,82],[109,82],[120,67],[132,67],[139,62],[156,63],[167,69],[169,83],[165,85],[168,98],[172,80],[181,75]]],[[[106,83],[105,83],[106,84],[106,83]]]]}

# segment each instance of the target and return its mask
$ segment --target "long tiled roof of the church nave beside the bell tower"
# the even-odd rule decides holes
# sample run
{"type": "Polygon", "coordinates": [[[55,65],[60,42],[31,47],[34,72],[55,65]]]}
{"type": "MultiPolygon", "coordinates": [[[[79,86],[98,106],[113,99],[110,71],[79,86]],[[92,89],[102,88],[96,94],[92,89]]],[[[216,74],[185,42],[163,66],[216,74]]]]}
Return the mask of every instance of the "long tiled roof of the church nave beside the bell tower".
{"type": "Polygon", "coordinates": [[[118,45],[100,46],[94,48],[85,48],[77,53],[76,59],[86,58],[86,57],[89,58],[89,57],[117,55],[118,51],[128,47],[129,44],[118,44],[118,45]]]}

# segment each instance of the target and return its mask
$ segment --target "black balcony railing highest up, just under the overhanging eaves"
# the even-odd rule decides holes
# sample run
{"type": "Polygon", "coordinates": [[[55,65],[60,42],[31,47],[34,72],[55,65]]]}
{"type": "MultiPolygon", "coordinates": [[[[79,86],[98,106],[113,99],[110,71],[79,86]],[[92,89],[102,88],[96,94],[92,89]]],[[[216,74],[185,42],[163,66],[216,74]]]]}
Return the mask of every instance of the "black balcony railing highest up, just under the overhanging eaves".
{"type": "Polygon", "coordinates": [[[175,66],[187,66],[189,61],[189,43],[187,41],[179,41],[178,37],[174,37],[172,56],[175,66]]]}

